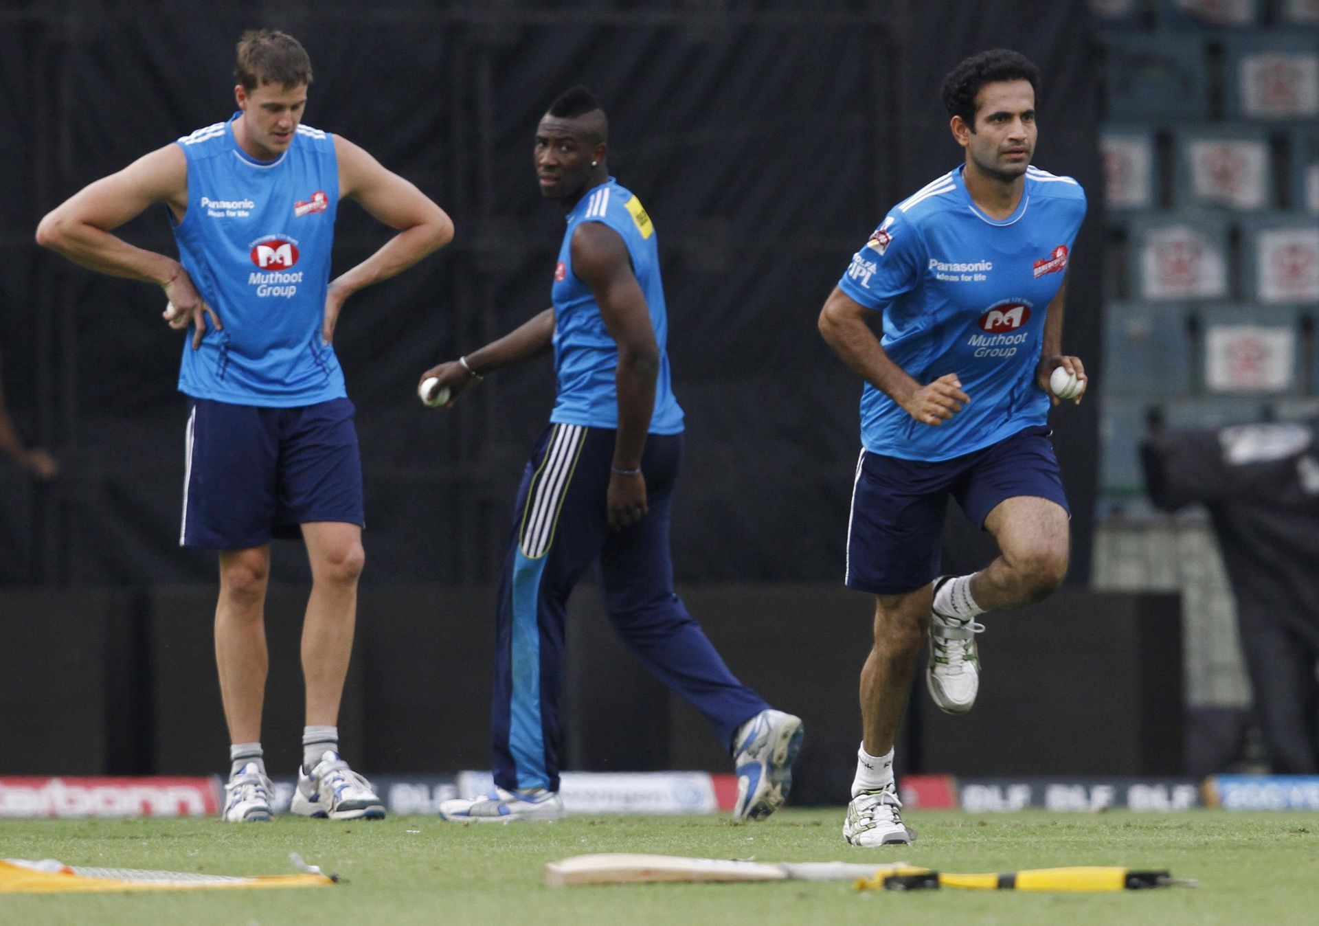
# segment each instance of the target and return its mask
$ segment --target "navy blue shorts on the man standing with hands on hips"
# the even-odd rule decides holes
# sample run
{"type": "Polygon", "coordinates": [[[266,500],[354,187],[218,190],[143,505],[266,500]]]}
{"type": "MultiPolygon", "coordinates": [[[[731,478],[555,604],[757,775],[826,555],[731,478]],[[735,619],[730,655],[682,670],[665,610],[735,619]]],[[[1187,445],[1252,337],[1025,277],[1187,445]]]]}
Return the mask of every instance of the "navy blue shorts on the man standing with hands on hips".
{"type": "Polygon", "coordinates": [[[364,525],[356,409],[332,398],[293,409],[190,398],[182,546],[243,550],[298,525],[364,525]]]}

